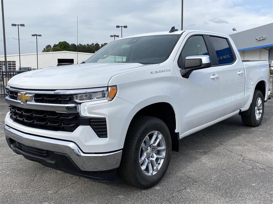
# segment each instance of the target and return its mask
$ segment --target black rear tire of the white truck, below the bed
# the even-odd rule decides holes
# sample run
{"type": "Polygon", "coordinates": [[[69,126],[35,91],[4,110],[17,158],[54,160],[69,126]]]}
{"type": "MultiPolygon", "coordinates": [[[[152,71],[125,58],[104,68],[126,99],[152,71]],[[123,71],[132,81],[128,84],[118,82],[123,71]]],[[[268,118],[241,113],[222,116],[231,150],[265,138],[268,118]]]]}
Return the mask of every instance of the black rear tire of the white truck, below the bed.
{"type": "Polygon", "coordinates": [[[259,126],[264,116],[264,96],[261,91],[254,91],[253,99],[248,111],[250,113],[248,116],[241,116],[243,124],[250,127],[259,126]],[[259,117],[256,117],[256,106],[259,99],[261,100],[261,108],[258,108],[258,111],[261,110],[261,113],[259,114],[259,117]]]}

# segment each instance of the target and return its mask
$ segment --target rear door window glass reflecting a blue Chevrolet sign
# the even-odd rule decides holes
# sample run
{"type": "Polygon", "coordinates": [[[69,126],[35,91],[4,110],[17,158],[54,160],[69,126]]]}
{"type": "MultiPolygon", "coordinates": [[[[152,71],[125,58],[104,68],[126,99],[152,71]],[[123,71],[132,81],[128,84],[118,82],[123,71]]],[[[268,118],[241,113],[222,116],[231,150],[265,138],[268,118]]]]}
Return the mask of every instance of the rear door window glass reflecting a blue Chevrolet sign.
{"type": "Polygon", "coordinates": [[[234,61],[231,48],[225,38],[218,38],[210,36],[219,64],[229,64],[234,61]]]}

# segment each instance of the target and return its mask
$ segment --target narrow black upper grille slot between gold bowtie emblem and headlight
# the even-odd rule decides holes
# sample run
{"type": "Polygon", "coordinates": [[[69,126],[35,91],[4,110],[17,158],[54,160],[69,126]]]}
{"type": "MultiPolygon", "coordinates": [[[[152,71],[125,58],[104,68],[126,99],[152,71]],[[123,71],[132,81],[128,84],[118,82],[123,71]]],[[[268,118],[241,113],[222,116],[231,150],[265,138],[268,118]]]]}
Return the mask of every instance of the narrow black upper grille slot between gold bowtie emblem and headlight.
{"type": "Polygon", "coordinates": [[[38,94],[34,95],[36,103],[55,103],[55,104],[71,104],[75,103],[72,100],[72,95],[66,94],[38,94]]]}

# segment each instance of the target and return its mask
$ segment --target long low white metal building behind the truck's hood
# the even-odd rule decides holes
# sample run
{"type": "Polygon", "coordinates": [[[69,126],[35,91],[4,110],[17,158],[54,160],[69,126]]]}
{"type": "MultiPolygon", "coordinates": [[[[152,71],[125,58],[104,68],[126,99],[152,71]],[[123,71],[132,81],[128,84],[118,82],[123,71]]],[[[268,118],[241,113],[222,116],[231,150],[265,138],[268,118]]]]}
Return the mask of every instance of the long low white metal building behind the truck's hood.
{"type": "MultiPolygon", "coordinates": [[[[38,53],[38,68],[55,67],[58,63],[81,63],[93,53],[58,51],[38,53]]],[[[32,67],[37,69],[37,53],[21,54],[21,67],[32,67]]],[[[4,63],[4,56],[0,56],[0,71],[4,63]]],[[[19,69],[19,54],[7,55],[8,70],[19,69]]]]}

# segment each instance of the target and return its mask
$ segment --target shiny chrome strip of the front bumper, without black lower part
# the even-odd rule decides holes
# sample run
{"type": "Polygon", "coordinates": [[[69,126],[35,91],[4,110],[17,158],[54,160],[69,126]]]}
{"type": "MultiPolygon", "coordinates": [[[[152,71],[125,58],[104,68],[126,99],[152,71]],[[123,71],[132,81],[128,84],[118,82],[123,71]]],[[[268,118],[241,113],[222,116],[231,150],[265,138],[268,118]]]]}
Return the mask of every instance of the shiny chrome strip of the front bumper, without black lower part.
{"type": "Polygon", "coordinates": [[[4,128],[5,135],[26,146],[67,154],[83,171],[104,171],[118,168],[122,150],[112,153],[87,154],[73,142],[33,136],[19,132],[9,126],[4,128]]]}

